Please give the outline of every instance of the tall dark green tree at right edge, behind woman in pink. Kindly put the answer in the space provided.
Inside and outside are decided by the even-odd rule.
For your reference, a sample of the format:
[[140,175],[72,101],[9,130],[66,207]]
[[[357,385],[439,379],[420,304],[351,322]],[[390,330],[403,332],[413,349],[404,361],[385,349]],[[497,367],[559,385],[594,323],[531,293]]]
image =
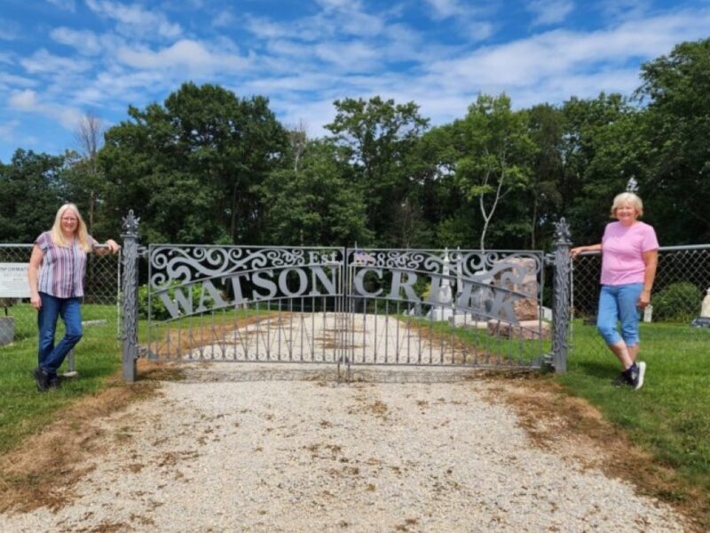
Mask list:
[[710,39],[645,63],[636,97],[647,103],[650,220],[667,243],[710,241]]

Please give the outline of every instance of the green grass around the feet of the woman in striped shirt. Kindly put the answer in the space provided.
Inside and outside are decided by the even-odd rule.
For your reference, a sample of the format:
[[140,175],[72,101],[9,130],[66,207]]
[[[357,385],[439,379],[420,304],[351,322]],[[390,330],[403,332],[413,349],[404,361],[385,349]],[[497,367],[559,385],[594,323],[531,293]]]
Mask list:
[[[111,306],[83,306],[83,320],[106,318],[110,310]],[[106,387],[106,378],[121,367],[115,307],[113,310],[113,320],[105,325],[84,328],[83,338],[75,348],[79,378],[65,381],[59,390],[39,394],[30,375],[37,365],[36,331],[31,338],[26,336],[0,346],[0,453],[14,448],[23,437],[40,431],[70,402]],[[16,311],[13,308],[13,315]],[[59,330],[57,340],[62,335]]]

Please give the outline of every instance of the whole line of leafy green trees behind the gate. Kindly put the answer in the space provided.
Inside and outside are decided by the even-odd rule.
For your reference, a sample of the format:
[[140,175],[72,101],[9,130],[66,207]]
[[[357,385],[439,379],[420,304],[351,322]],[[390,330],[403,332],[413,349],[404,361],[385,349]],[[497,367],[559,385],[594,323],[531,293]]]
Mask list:
[[93,235],[132,209],[144,243],[549,249],[565,217],[598,242],[634,178],[664,245],[710,242],[710,39],[644,63],[631,95],[516,110],[481,94],[433,127],[415,102],[335,100],[329,134],[280,123],[268,99],[183,84],[78,148],[0,163],[0,242],[32,242],[59,204]]

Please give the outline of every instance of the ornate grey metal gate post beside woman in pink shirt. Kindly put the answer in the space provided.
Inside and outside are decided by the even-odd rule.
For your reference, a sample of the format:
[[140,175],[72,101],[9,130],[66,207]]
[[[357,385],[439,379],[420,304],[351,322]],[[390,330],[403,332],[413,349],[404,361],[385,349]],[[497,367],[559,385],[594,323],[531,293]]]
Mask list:
[[563,218],[555,223],[555,278],[552,285],[552,364],[556,372],[567,371],[567,330],[570,324],[570,227]]

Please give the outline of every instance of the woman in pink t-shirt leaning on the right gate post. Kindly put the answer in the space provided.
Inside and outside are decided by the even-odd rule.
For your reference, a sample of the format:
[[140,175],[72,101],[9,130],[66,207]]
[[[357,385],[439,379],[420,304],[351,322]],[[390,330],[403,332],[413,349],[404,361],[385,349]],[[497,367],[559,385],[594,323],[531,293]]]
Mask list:
[[[602,252],[602,290],[596,328],[624,367],[614,385],[639,389],[646,363],[636,362],[640,311],[651,303],[651,289],[659,261],[659,241],[653,227],[638,220],[643,215],[641,198],[622,193],[614,198],[602,243],[572,248],[572,258],[583,251]],[[617,330],[621,323],[621,331]]]

